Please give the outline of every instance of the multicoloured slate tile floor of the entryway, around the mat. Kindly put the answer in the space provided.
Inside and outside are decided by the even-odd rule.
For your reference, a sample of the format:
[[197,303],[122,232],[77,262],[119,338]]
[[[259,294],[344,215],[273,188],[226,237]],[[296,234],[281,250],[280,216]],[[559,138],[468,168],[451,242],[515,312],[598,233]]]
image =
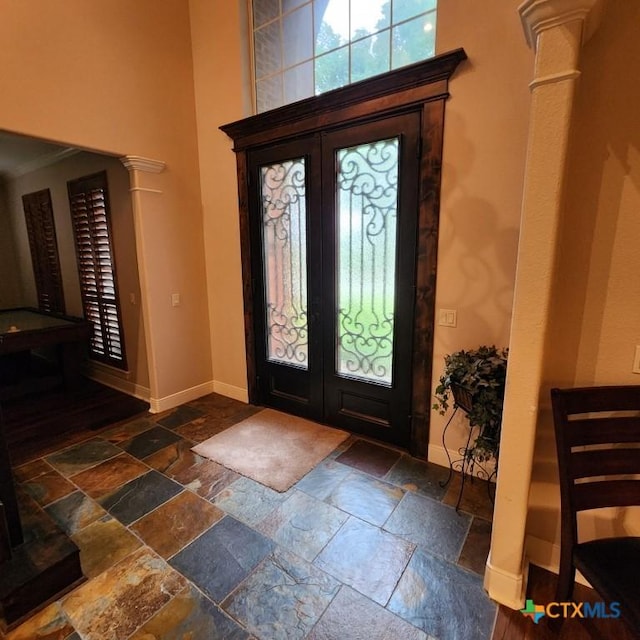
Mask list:
[[6,639],[491,637],[484,483],[456,512],[458,476],[356,436],[285,493],[191,451],[257,410],[213,394],[17,467],[87,581]]

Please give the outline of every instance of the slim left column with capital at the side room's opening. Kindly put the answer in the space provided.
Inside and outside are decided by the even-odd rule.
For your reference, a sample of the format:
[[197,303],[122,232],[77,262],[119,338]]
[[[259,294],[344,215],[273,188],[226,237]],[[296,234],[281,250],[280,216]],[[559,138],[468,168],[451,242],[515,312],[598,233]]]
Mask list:
[[160,173],[165,168],[161,160],[152,160],[140,156],[124,156],[120,162],[129,171],[129,191],[133,207],[133,220],[136,234],[136,257],[138,260],[138,274],[140,277],[140,305],[142,310],[142,322],[144,325],[144,340],[147,348],[147,362],[149,366],[149,400],[151,411],[154,410],[154,401],[159,398],[158,369],[156,365],[156,350],[153,341],[153,314],[149,304],[149,280],[144,251],[143,213],[149,207],[145,207],[144,194],[161,194],[159,189],[142,186],[145,173]]

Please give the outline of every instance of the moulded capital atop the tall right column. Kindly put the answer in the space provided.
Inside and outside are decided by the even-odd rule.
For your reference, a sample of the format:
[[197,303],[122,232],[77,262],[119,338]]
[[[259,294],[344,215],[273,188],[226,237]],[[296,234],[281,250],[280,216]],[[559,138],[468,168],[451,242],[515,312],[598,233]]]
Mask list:
[[598,28],[603,6],[604,0],[525,0],[518,12],[527,43],[535,49],[541,31],[575,20],[583,22],[584,44]]

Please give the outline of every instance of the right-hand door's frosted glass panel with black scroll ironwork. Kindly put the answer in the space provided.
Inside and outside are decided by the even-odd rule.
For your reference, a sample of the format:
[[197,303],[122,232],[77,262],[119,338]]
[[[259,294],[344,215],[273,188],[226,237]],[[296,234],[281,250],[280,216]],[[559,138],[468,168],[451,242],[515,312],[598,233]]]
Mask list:
[[391,386],[399,138],[336,153],[339,375]]

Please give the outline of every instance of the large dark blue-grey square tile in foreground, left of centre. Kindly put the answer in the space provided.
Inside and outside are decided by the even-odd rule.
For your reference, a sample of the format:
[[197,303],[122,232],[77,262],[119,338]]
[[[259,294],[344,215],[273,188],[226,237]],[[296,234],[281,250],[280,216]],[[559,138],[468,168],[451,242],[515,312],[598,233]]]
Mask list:
[[176,554],[170,564],[221,602],[273,547],[271,540],[227,516]]

